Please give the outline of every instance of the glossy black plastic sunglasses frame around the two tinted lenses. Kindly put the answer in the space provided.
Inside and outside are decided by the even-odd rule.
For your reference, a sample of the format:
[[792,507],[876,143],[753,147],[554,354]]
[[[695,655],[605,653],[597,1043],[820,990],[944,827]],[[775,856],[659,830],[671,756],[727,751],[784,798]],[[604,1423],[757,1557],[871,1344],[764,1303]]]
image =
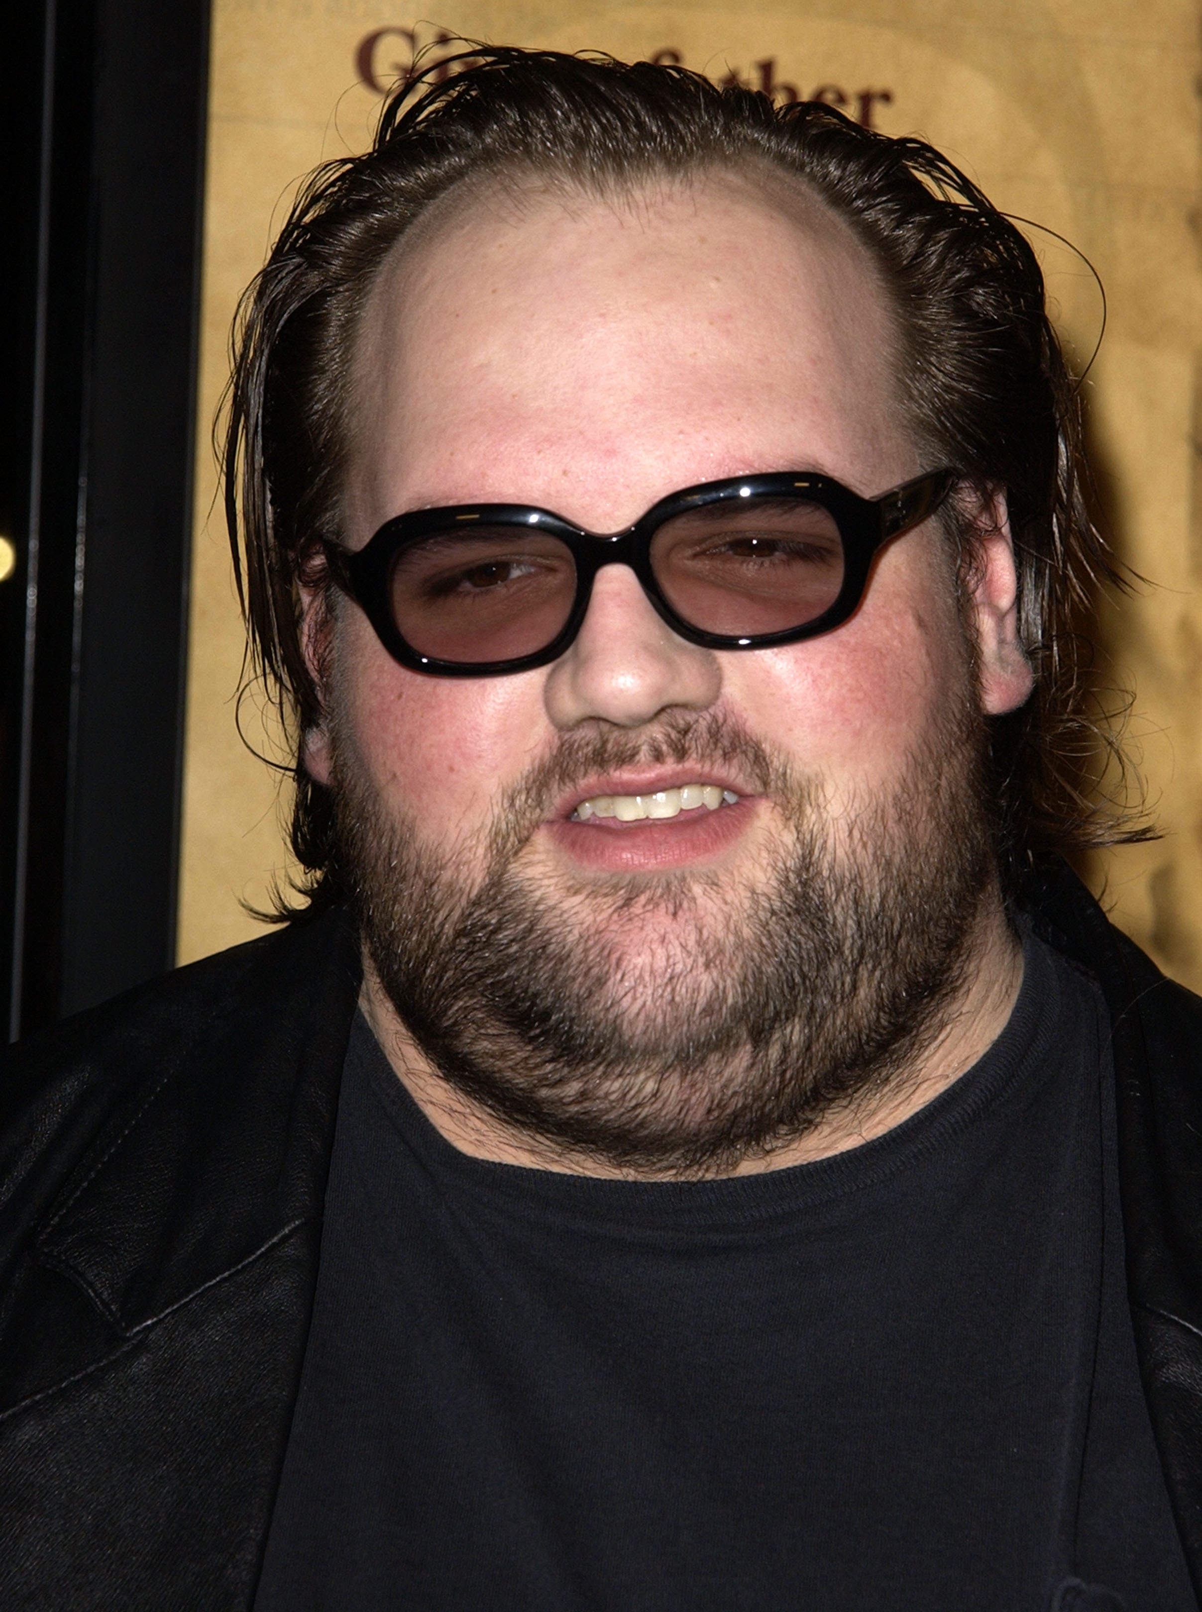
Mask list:
[[[413,509],[394,516],[360,550],[340,543],[323,543],[331,579],[363,609],[389,654],[413,672],[432,677],[505,677],[534,671],[558,659],[581,629],[592,596],[592,584],[602,566],[629,566],[642,584],[658,616],[687,643],[705,650],[766,650],[776,645],[802,643],[841,627],[857,609],[868,585],[873,559],[884,543],[910,532],[944,503],[958,480],[955,471],[929,471],[912,482],[860,498],[842,482],[812,471],[779,471],[763,476],[729,476],[720,482],[702,482],[670,493],[623,532],[586,532],[563,516],[536,505],[449,505],[436,509]],[[705,632],[684,621],[660,592],[650,564],[655,532],[674,516],[705,505],[737,498],[786,498],[803,495],[821,505],[839,527],[844,545],[844,582],[839,596],[821,616],[783,632],[729,637]],[[542,650],[508,661],[442,661],[419,654],[399,632],[389,606],[389,575],[397,553],[434,532],[463,529],[479,521],[487,526],[511,526],[547,532],[571,551],[576,566],[576,598],[563,629]]]

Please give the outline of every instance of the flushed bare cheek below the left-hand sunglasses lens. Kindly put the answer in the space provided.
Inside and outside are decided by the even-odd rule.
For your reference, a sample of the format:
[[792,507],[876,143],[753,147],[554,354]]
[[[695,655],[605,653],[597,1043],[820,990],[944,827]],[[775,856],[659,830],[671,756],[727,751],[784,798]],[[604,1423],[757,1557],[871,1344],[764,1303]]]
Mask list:
[[395,814],[413,814],[432,838],[470,835],[545,742],[540,679],[421,677],[397,666],[374,634],[368,642],[347,624],[342,743]]

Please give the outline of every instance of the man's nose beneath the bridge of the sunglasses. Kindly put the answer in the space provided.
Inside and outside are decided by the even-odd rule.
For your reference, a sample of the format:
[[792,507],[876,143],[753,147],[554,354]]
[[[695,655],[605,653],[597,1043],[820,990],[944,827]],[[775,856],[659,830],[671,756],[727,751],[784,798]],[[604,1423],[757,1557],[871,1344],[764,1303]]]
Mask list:
[[553,663],[544,700],[558,729],[641,727],[663,711],[705,711],[721,690],[712,650],[662,621],[629,566],[602,566],[576,642]]

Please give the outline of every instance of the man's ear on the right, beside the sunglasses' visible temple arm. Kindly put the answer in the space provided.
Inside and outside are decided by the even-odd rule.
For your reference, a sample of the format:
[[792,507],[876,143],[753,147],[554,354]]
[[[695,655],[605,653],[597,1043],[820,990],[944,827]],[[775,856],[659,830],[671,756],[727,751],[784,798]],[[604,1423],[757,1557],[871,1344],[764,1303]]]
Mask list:
[[1016,711],[1031,695],[1034,672],[1018,637],[1018,572],[1005,493],[976,495],[962,509],[971,529],[966,556],[966,613],[976,637],[981,709],[986,716]]

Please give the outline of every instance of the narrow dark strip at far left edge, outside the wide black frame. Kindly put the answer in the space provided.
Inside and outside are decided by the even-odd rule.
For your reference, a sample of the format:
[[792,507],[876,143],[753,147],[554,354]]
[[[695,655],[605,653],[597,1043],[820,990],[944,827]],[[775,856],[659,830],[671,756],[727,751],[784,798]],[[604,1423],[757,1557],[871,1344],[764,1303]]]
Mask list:
[[[10,1037],[56,1016],[69,811],[76,555],[86,471],[94,0],[31,0],[3,18],[10,97],[3,274],[3,519],[18,574],[5,617],[3,951]],[[65,47],[69,40],[69,48]],[[16,113],[13,116],[13,113]],[[29,1003],[37,1004],[32,1020]]]

